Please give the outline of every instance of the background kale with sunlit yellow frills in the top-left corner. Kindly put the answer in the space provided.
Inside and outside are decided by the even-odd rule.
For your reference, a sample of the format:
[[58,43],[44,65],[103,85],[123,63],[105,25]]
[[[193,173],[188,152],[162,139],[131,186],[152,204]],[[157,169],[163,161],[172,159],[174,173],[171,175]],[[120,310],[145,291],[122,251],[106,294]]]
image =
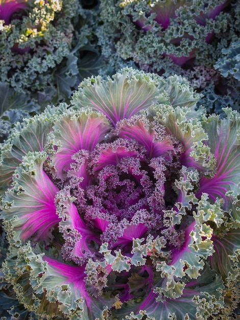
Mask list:
[[[81,79],[84,54],[77,53],[97,56],[88,15],[77,0],[0,1],[0,81],[31,94],[38,107],[69,101]],[[83,62],[82,69],[90,69]]]

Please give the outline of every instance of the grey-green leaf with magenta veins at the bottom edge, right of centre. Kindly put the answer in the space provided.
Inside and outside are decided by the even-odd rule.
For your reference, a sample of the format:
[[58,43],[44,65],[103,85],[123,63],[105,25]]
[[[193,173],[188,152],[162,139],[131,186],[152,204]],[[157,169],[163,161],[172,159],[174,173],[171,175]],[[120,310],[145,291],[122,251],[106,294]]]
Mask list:
[[[125,317],[130,320],[205,319],[209,315],[206,306],[217,313],[223,304],[220,293],[222,287],[221,278],[215,277],[214,272],[206,268],[198,280],[186,285],[180,298],[166,299],[161,303],[156,302],[156,294],[149,292],[138,302],[130,300],[125,303],[113,314],[121,320]],[[130,316],[129,309],[133,310]]]

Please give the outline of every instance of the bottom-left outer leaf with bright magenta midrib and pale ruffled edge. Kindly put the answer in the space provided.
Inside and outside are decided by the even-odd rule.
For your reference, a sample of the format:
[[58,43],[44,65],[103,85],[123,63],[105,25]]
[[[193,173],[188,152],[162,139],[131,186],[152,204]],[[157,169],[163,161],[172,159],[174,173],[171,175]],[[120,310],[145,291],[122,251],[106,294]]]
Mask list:
[[84,281],[85,266],[70,266],[47,257],[43,260],[48,265],[38,290],[42,293],[46,288],[50,302],[58,301],[59,310],[73,320],[105,319],[104,309],[111,306],[115,299],[89,296]]

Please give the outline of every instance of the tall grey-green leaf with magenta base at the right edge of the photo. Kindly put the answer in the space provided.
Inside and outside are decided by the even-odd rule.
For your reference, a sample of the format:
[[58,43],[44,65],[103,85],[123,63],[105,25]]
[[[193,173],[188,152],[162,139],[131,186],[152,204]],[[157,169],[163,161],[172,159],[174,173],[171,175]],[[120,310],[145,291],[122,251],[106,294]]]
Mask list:
[[217,197],[224,199],[224,210],[231,210],[232,220],[239,225],[239,208],[235,204],[240,194],[240,116],[231,109],[224,110],[228,115],[226,119],[211,116],[204,125],[217,168],[212,178],[201,178],[197,196],[207,193],[212,201]]

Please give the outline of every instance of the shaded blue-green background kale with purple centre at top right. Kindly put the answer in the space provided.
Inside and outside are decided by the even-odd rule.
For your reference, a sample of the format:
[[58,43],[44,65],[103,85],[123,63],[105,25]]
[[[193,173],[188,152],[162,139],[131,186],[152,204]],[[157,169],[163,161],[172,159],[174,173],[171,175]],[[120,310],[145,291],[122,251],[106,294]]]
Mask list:
[[210,113],[223,114],[225,106],[239,111],[239,101],[236,85],[232,89],[214,64],[239,38],[239,11],[239,2],[225,0],[103,0],[97,34],[113,66],[182,75],[205,96]]

